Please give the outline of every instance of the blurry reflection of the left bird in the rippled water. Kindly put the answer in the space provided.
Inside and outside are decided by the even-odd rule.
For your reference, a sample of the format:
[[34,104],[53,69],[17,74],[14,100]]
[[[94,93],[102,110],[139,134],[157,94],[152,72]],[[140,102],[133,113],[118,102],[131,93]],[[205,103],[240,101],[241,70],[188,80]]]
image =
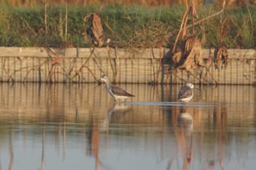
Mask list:
[[116,122],[121,117],[130,112],[132,109],[127,106],[125,103],[113,103],[113,106],[108,110],[105,120],[102,122],[101,130],[108,131],[110,121]]

